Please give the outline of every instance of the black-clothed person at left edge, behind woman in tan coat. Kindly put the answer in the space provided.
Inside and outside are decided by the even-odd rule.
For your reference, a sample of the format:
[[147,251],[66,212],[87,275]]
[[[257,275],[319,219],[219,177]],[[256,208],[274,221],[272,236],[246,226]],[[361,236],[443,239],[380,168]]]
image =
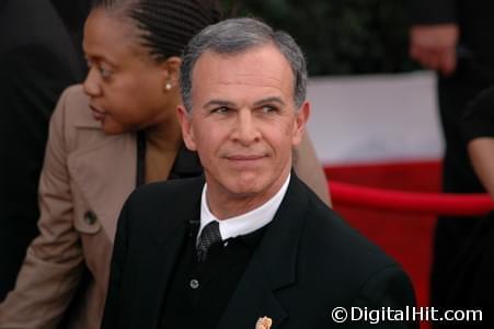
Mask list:
[[48,0],[0,0],[0,300],[37,235],[48,120],[81,67]]

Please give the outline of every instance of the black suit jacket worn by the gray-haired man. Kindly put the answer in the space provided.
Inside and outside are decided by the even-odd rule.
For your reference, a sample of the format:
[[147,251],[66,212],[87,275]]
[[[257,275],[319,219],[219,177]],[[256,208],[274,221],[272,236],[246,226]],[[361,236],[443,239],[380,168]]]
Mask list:
[[[203,185],[203,178],[150,184],[126,202],[102,328],[159,328],[187,225],[199,218]],[[292,174],[218,328],[253,329],[263,316],[273,319],[272,328],[328,328],[335,325],[330,313],[338,306],[403,308],[414,303],[406,274]],[[352,326],[357,324],[345,328]]]

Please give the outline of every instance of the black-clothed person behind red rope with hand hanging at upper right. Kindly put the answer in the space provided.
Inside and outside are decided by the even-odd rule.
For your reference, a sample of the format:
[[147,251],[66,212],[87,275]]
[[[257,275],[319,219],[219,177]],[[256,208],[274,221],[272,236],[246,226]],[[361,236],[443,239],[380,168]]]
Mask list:
[[[494,82],[494,1],[410,0],[411,56],[438,71],[438,100],[446,143],[443,191],[484,192],[468,158],[460,122],[467,104]],[[478,217],[438,218],[430,280],[430,303],[444,306],[451,264]],[[436,324],[437,325],[437,324]]]

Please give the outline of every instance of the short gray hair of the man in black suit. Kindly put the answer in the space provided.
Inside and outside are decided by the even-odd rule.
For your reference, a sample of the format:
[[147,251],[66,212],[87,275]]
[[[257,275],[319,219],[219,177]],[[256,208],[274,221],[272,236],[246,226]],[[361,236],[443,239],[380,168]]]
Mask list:
[[294,102],[299,109],[307,93],[307,65],[302,50],[288,33],[274,31],[256,19],[241,18],[205,27],[185,47],[180,84],[187,112],[192,112],[192,71],[204,53],[239,54],[266,44],[275,45],[288,60],[295,78]]

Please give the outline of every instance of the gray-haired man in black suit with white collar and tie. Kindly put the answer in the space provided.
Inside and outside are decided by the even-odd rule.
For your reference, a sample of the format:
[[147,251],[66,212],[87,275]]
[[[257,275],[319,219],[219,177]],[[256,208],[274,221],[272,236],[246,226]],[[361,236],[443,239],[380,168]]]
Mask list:
[[191,41],[177,114],[205,178],[147,185],[126,202],[102,328],[253,329],[263,317],[326,328],[336,307],[414,305],[406,274],[291,170],[306,83],[294,39],[256,20]]

